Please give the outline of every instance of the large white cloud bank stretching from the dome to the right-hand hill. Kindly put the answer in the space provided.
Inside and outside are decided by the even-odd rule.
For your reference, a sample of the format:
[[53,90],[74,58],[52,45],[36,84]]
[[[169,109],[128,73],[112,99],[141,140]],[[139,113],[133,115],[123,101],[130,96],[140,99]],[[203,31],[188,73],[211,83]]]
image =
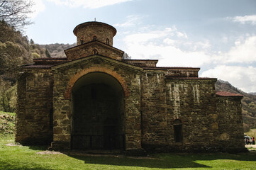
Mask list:
[[[230,42],[228,37],[221,41]],[[175,26],[136,30],[126,35],[123,42],[123,50],[133,59],[159,60],[158,67],[201,67],[208,70],[200,77],[216,77],[243,91],[256,91],[256,35],[238,37],[228,52],[213,51],[210,40],[191,40]]]

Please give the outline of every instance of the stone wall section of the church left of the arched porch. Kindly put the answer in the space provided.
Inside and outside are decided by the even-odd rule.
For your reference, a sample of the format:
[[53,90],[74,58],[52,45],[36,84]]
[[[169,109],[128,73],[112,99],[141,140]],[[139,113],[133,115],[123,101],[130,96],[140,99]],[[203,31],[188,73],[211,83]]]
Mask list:
[[50,144],[52,141],[52,73],[27,69],[18,79],[16,142]]

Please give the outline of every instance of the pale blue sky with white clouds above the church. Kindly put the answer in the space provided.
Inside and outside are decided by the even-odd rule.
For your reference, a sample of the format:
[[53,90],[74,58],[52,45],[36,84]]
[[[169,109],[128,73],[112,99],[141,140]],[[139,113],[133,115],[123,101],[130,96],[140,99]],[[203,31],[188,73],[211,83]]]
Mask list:
[[26,35],[73,44],[80,23],[108,23],[113,47],[157,67],[200,67],[199,77],[256,92],[255,0],[34,0]]

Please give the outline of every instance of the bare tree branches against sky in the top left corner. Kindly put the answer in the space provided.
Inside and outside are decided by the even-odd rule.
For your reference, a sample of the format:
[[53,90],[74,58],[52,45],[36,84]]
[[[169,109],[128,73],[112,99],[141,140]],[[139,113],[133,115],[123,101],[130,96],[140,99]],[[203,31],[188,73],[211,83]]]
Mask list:
[[31,0],[0,0],[0,21],[22,29],[31,23],[28,21],[28,14],[33,12],[32,6]]

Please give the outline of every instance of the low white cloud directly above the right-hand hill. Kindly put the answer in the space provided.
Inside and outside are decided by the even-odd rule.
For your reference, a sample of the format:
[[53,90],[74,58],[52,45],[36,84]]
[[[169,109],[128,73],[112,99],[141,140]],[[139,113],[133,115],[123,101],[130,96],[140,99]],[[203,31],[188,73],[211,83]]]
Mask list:
[[201,74],[201,77],[218,77],[247,92],[256,91],[256,68],[219,65]]

